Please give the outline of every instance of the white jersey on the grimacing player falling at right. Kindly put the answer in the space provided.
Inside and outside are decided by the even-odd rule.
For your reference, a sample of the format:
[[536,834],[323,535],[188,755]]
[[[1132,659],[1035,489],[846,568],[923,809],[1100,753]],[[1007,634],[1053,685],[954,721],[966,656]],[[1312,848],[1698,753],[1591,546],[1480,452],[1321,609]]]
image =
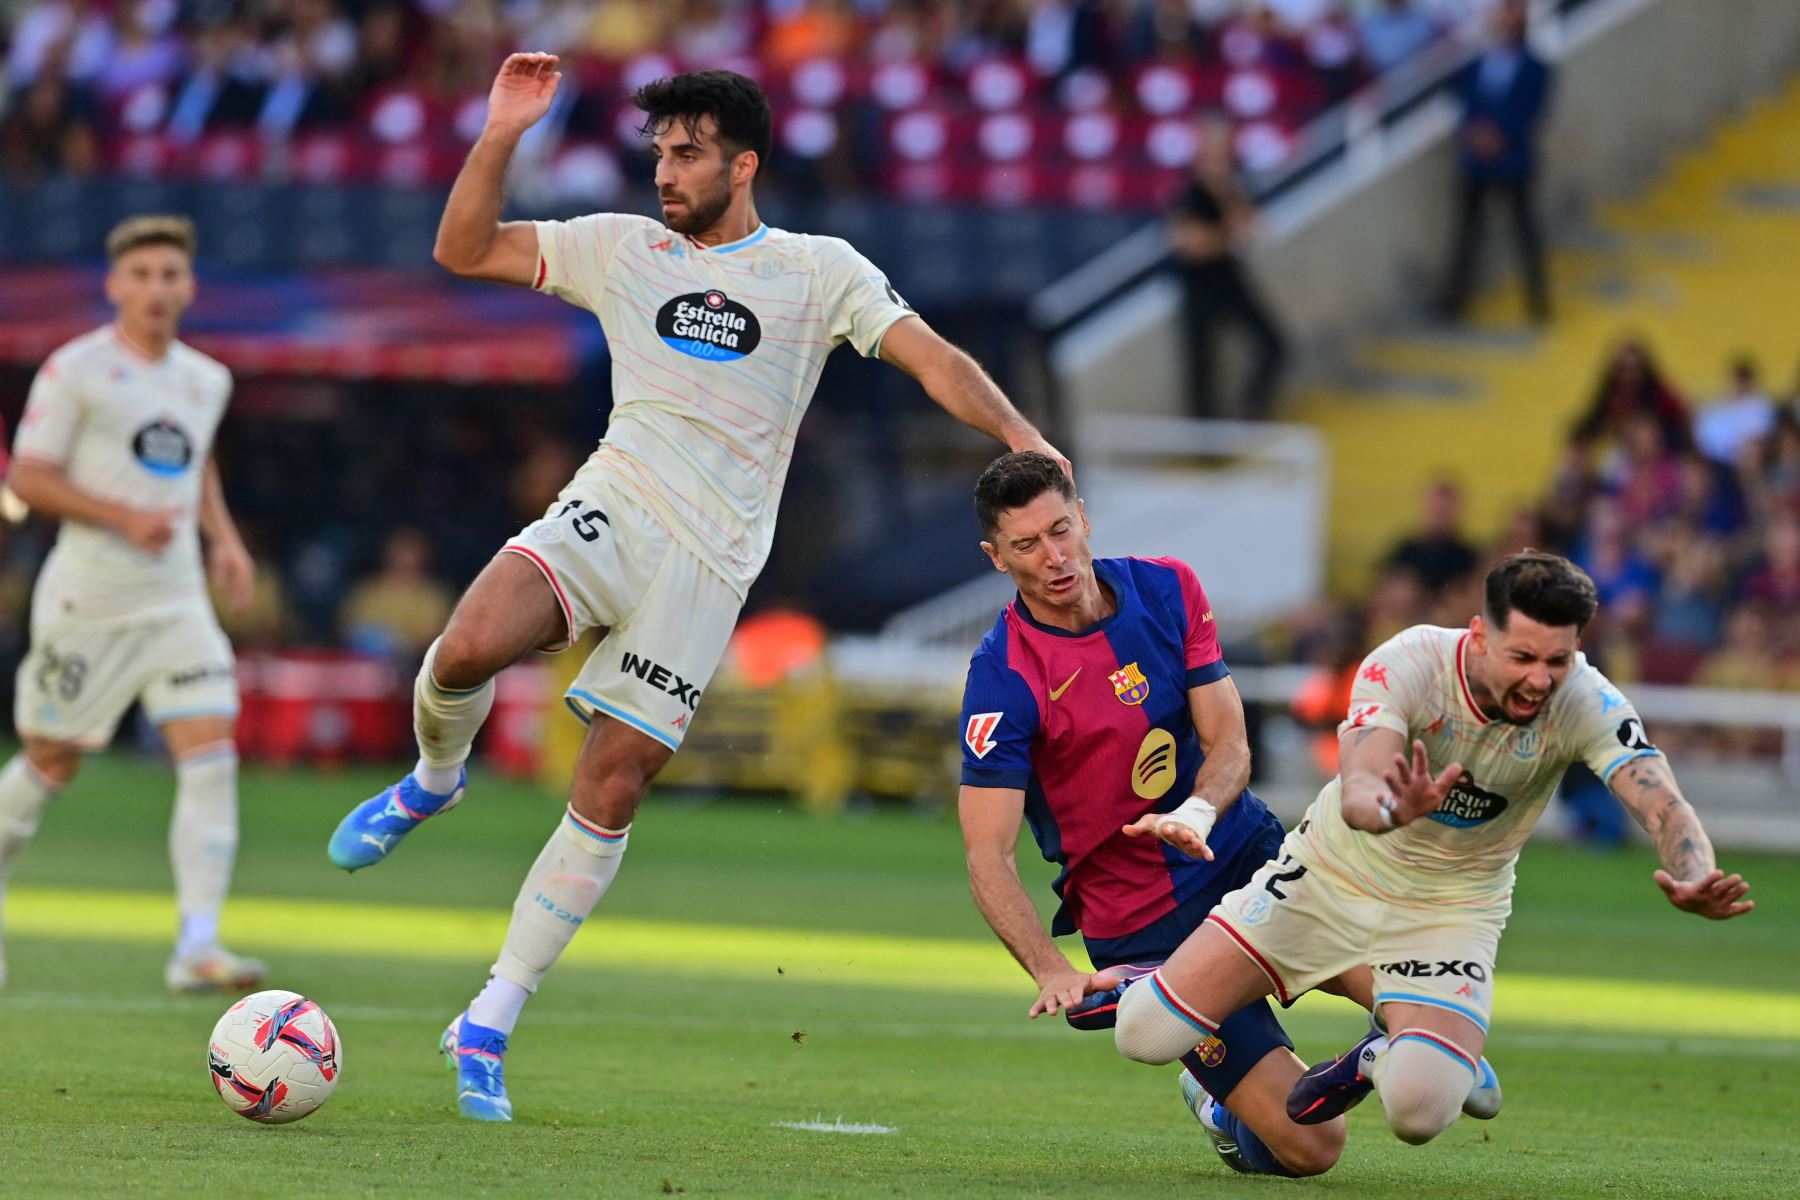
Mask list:
[[1381,644],[1357,673],[1339,732],[1377,727],[1426,743],[1431,772],[1463,775],[1435,813],[1391,833],[1345,824],[1339,781],[1307,810],[1305,846],[1327,873],[1381,900],[1415,907],[1512,907],[1512,869],[1571,763],[1609,779],[1660,754],[1631,702],[1586,655],[1530,725],[1489,720],[1463,673],[1469,630],[1417,624]]

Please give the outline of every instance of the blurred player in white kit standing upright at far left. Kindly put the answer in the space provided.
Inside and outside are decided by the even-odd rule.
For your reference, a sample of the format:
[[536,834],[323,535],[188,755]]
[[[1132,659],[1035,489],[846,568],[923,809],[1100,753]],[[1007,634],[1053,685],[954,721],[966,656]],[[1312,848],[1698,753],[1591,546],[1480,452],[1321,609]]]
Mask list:
[[175,338],[194,299],[193,254],[185,218],[113,228],[106,299],[119,320],[50,354],[20,419],[9,482],[61,531],[18,669],[23,750],[0,768],[0,889],[81,754],[112,741],[135,700],[175,757],[180,932],[164,977],[212,991],[254,988],[265,970],[218,941],[238,855],[238,680],[207,574],[243,608],[254,572],[212,461],[230,372]]

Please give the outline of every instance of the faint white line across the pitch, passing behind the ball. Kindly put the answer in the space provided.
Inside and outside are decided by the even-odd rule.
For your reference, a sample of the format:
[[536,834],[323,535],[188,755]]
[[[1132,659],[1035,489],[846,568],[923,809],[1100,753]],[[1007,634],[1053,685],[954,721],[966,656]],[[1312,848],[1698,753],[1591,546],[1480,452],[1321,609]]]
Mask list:
[[[218,997],[225,1000],[225,997]],[[157,995],[86,995],[81,991],[4,991],[0,990],[0,1016],[11,1009],[58,1009],[76,1013],[106,1015],[193,1015],[202,1000],[196,997],[157,997]],[[392,1007],[374,1004],[333,1004],[328,1007],[337,1022],[437,1022],[443,1013],[437,1009]],[[540,1011],[529,1016],[536,1025],[592,1025],[599,1018],[590,1013]],[[722,1020],[718,1016],[700,1016],[693,1013],[639,1013],[619,1009],[607,1013],[608,1025],[637,1025],[644,1029],[698,1029],[731,1033],[792,1033],[792,1022],[785,1018],[769,1020]],[[828,1020],[814,1018],[814,1034],[842,1033],[848,1036],[878,1038],[954,1038],[959,1042],[1042,1042],[1060,1036],[1055,1025],[981,1025],[981,1024],[941,1024],[925,1025],[918,1022],[869,1022],[869,1020]],[[1354,1033],[1354,1031],[1352,1031]],[[1348,1034],[1346,1034],[1348,1036]],[[1577,1051],[1584,1054],[1654,1054],[1676,1052],[1701,1058],[1800,1058],[1800,1042],[1793,1040],[1757,1040],[1757,1038],[1696,1038],[1685,1034],[1607,1034],[1582,1031],[1543,1031],[1530,1027],[1503,1029],[1489,1038],[1490,1047],[1499,1054],[1507,1047],[1528,1051]]]

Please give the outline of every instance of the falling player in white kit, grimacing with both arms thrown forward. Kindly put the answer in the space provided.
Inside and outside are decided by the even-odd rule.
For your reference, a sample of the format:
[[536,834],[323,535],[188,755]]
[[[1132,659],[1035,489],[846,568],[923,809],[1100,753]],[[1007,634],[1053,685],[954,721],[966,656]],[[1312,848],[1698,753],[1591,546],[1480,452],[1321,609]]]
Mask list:
[[1197,1022],[1370,966],[1377,1029],[1303,1074],[1289,1115],[1328,1121],[1375,1090],[1395,1135],[1431,1141],[1471,1083],[1487,1083],[1480,1060],[1514,864],[1573,763],[1649,831],[1672,905],[1712,919],[1750,912],[1750,885],[1715,869],[1631,702],[1577,651],[1597,606],[1579,567],[1526,551],[1494,567],[1467,630],[1413,626],[1379,646],[1339,727],[1339,777],[1282,856],[1226,894],[1152,975],[1156,986],[1127,990],[1120,1051],[1174,1061]]

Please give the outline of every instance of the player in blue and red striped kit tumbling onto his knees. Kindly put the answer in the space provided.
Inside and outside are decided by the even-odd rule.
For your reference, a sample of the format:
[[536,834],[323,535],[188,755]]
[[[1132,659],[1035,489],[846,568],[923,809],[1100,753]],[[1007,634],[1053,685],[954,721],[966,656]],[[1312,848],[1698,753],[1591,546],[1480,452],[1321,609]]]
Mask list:
[[[1244,705],[1193,570],[1172,558],[1094,560],[1075,486],[1042,453],[990,464],[976,515],[983,549],[1019,597],[983,639],[963,693],[970,887],[1039,984],[1030,1015],[1062,1011],[1071,1025],[1105,1029],[1123,984],[1148,975],[1273,858],[1283,829],[1246,788]],[[1210,831],[1204,815],[1192,817],[1208,811]],[[1177,813],[1186,829],[1170,828]],[[1049,934],[1013,858],[1024,820],[1062,865]],[[1076,930],[1093,973],[1051,941]],[[1341,984],[1368,1004],[1366,972]],[[1287,1117],[1305,1070],[1292,1045],[1265,1000],[1217,1036],[1195,1027],[1183,1092],[1235,1169],[1318,1175],[1343,1150],[1341,1123]]]

